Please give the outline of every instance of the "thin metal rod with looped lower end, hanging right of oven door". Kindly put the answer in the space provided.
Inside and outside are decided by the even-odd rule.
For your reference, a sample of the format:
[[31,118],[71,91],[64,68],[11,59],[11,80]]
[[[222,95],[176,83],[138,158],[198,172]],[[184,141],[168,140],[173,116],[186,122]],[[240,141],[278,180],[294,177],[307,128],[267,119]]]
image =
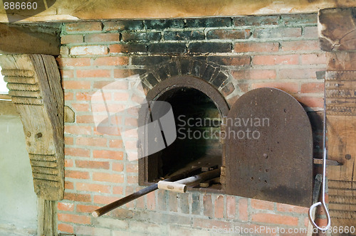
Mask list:
[[[330,220],[330,213],[328,208],[326,207],[325,204],[325,174],[326,174],[326,146],[325,146],[325,142],[326,142],[326,90],[324,87],[324,122],[323,122],[323,180],[322,180],[322,198],[321,201],[318,203],[314,203],[313,205],[310,206],[309,208],[309,220],[310,222],[314,225],[314,227],[316,227],[318,230],[321,231],[326,231],[328,230],[328,228],[331,225],[331,220]],[[313,220],[313,209],[318,207],[318,205],[321,205],[321,207],[325,210],[325,215],[326,218],[328,220],[328,224],[325,227],[319,227]]]

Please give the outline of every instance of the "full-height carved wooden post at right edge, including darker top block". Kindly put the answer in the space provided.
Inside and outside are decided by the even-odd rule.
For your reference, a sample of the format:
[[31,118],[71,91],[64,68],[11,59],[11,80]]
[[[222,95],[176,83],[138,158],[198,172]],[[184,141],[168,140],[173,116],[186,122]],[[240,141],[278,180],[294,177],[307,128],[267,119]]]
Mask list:
[[327,51],[325,78],[331,224],[356,225],[356,8],[319,11],[320,48]]

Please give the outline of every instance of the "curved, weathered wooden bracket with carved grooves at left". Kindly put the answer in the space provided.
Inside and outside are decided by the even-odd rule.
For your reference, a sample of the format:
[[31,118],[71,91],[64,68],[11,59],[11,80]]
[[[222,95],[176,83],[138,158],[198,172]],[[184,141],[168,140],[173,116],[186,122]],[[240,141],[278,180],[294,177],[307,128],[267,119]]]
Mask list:
[[20,114],[38,198],[64,194],[63,90],[51,55],[0,55],[1,73]]

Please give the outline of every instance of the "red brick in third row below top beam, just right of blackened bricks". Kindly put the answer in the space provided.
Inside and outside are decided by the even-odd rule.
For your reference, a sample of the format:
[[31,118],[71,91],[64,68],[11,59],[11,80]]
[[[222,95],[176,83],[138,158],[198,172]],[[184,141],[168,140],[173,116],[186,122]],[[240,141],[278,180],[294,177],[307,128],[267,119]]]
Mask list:
[[236,43],[234,51],[236,53],[249,53],[249,52],[277,52],[279,43]]

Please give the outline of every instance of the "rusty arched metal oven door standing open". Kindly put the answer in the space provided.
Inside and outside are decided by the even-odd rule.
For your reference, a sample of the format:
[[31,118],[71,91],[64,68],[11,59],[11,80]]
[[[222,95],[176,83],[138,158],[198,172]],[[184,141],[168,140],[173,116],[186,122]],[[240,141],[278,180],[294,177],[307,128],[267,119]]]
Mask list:
[[224,123],[227,194],[310,206],[313,136],[297,100],[275,88],[251,90]]

